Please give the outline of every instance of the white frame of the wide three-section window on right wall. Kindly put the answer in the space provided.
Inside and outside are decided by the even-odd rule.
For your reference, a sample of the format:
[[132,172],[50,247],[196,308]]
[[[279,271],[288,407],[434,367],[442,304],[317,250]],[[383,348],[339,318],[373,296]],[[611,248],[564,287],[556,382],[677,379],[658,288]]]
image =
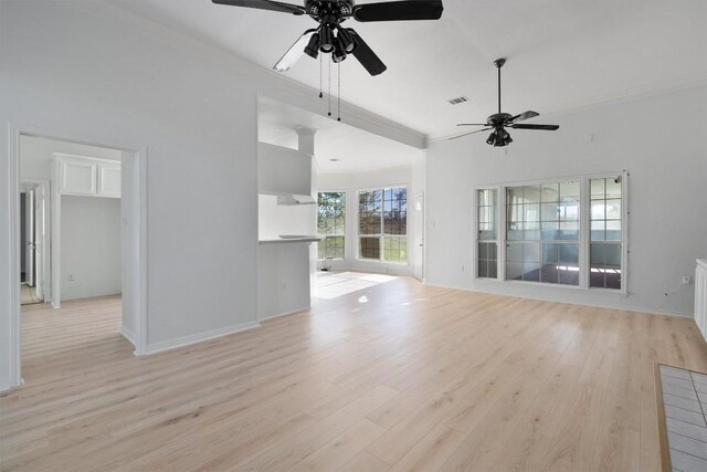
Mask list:
[[[629,232],[631,214],[630,198],[629,198],[629,179],[631,174],[627,170],[620,170],[615,172],[600,172],[588,174],[581,176],[568,176],[568,177],[553,177],[537,180],[524,180],[503,182],[494,185],[479,185],[473,188],[473,212],[472,212],[472,230],[473,230],[473,244],[472,244],[472,275],[475,282],[478,283],[510,283],[530,286],[553,287],[558,290],[581,290],[592,293],[605,293],[626,296],[629,294],[629,256],[631,254],[631,248],[629,247]],[[616,178],[621,177],[621,289],[604,289],[604,287],[591,287],[590,286],[590,231],[591,231],[591,189],[590,180],[600,178]],[[507,214],[506,214],[506,189],[508,187],[520,186],[536,186],[542,183],[557,183],[567,180],[579,180],[580,183],[580,201],[579,201],[579,285],[564,285],[555,284],[548,282],[535,282],[535,281],[516,281],[506,280],[506,251],[507,251]],[[496,208],[494,216],[497,221],[496,231],[496,244],[498,248],[498,266],[496,277],[479,277],[478,276],[478,243],[482,241],[478,238],[478,190],[496,190]],[[484,240],[492,242],[492,240]]]

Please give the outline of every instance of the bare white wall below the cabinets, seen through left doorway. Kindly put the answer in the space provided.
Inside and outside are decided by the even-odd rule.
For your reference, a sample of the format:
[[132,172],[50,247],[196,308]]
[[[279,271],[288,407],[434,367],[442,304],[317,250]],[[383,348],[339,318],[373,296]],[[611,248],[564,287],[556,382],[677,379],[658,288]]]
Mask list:
[[119,294],[120,199],[61,198],[62,301]]

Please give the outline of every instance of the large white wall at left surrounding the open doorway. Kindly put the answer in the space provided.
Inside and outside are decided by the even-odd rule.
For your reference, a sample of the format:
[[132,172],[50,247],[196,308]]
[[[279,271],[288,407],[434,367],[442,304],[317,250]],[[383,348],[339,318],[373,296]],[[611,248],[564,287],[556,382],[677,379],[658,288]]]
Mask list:
[[[325,113],[316,91],[105,2],[0,2],[0,153],[10,124],[147,149],[148,350],[256,319],[258,94]],[[346,104],[342,113],[350,125],[424,140]],[[10,169],[4,155],[1,188]],[[8,209],[0,191],[0,389],[17,381],[9,291],[19,261],[7,261],[19,230],[10,234]]]

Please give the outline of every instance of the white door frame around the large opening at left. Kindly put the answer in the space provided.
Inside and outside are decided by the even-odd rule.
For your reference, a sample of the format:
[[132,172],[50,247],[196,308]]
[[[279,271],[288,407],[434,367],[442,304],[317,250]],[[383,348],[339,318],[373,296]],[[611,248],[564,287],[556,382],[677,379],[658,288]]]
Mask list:
[[[115,143],[113,139],[96,138],[95,136],[81,136],[74,133],[66,134],[48,130],[28,125],[10,123],[8,126],[8,157],[9,157],[9,212],[10,212],[10,254],[8,264],[8,280],[10,281],[10,297],[8,300],[8,315],[10,316],[10,381],[11,388],[22,385],[21,364],[21,317],[20,317],[20,136],[34,136],[68,143],[85,144],[107,147],[133,153],[136,159],[139,188],[135,196],[139,206],[135,214],[136,225],[130,227],[133,235],[138,241],[140,254],[139,268],[128,273],[128,277],[137,280],[137,333],[130,342],[135,345],[135,355],[143,356],[147,353],[147,156],[148,147],[134,143]],[[135,188],[136,186],[130,186]],[[51,197],[50,197],[51,198]]]

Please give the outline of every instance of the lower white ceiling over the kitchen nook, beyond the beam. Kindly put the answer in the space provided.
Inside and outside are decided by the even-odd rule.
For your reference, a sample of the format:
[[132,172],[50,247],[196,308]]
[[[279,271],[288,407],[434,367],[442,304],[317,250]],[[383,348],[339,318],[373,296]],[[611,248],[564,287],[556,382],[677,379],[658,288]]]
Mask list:
[[318,170],[325,174],[408,166],[422,155],[420,149],[392,139],[272,98],[258,97],[258,140],[297,149],[297,127],[317,129],[315,159]]

